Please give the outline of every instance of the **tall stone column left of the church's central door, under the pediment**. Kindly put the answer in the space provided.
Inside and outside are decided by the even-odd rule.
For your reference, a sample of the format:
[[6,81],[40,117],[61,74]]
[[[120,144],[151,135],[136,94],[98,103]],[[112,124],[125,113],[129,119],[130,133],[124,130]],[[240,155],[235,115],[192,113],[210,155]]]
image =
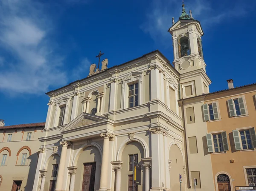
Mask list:
[[67,141],[62,141],[60,145],[62,145],[61,160],[58,167],[58,176],[57,176],[55,191],[62,191],[65,162],[66,162],[66,156],[67,156],[67,146],[70,145],[70,143]]

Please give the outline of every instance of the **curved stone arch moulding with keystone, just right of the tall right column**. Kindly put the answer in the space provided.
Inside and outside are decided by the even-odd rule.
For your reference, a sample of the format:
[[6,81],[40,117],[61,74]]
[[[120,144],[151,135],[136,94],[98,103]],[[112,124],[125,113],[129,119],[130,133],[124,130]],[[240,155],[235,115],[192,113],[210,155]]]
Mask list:
[[[148,145],[147,143],[145,142],[145,140],[141,139],[140,137],[136,137],[136,138],[133,138],[132,141],[137,141],[139,142],[142,147],[143,147],[143,150],[144,150],[144,156],[145,158],[149,157],[149,150],[148,150]],[[117,151],[117,155],[116,155],[116,160],[122,160],[122,151],[124,150],[125,146],[132,142],[129,138],[127,138],[119,147],[118,151]]]

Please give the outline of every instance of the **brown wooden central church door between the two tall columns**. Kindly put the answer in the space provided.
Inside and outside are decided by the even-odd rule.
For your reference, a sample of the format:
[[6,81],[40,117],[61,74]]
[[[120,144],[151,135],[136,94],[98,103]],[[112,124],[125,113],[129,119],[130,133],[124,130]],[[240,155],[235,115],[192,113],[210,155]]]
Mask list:
[[84,164],[82,191],[94,191],[96,162]]

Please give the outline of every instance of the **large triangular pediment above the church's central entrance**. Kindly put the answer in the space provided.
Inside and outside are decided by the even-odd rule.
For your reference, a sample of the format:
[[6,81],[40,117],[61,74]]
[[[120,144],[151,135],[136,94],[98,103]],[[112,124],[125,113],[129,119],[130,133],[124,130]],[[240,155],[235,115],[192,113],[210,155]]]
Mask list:
[[66,126],[61,128],[60,131],[67,131],[69,129],[90,125],[93,123],[108,120],[108,118],[96,116],[93,114],[81,113],[78,117],[68,123]]

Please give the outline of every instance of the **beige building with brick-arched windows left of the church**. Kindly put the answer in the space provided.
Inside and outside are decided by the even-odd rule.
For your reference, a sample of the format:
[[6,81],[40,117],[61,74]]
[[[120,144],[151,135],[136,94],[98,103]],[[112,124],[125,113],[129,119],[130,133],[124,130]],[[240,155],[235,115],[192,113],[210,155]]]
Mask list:
[[44,124],[4,126],[0,121],[1,191],[32,190]]

